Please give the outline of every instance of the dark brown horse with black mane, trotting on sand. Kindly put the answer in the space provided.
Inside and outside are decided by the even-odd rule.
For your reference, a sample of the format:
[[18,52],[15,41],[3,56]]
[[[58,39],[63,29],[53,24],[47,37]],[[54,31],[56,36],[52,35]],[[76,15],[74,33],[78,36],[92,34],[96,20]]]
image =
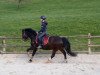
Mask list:
[[[24,41],[27,41],[28,39],[31,40],[31,46],[30,46],[30,48],[27,49],[28,54],[29,54],[30,50],[33,51],[29,62],[32,62],[32,59],[33,59],[36,51],[38,50],[39,44],[36,42],[37,35],[38,35],[37,32],[31,28],[22,29],[22,39]],[[46,45],[44,45],[42,47],[42,49],[43,50],[45,50],[45,49],[52,50],[50,59],[52,59],[55,56],[55,54],[58,50],[60,50],[63,53],[65,60],[67,59],[66,53],[73,57],[77,56],[76,53],[71,51],[70,42],[65,37],[49,36],[48,43]]]

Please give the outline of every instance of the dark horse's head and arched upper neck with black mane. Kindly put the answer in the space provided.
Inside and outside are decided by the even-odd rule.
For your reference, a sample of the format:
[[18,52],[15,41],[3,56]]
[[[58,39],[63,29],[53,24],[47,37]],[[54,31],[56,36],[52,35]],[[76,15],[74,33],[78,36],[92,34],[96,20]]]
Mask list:
[[36,35],[37,35],[36,31],[32,30],[31,28],[22,29],[23,40],[28,40],[28,38],[35,39]]

